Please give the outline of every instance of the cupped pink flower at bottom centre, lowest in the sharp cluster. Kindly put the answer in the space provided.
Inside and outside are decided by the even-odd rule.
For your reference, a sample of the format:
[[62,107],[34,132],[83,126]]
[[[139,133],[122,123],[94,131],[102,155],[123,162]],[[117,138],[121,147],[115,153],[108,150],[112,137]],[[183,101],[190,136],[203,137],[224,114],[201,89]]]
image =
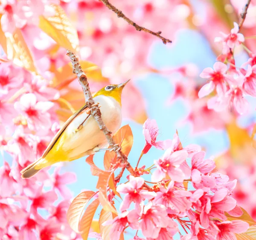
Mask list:
[[149,202],[141,214],[141,231],[145,237],[157,238],[161,228],[168,226],[169,217],[164,205],[153,205]]

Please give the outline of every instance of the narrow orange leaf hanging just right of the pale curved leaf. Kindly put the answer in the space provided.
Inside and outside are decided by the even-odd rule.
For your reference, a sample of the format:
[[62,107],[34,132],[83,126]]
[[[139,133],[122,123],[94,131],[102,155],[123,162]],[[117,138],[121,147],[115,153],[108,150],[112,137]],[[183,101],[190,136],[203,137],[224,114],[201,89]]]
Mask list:
[[79,224],[79,230],[84,240],[87,240],[88,234],[93,222],[94,214],[99,206],[99,199],[94,200],[85,210],[84,215]]

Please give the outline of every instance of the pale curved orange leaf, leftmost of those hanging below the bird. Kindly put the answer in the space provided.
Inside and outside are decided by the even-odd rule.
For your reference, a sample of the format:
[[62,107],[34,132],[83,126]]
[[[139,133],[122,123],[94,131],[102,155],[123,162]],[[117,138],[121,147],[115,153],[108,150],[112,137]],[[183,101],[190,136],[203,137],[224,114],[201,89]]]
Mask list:
[[75,197],[67,211],[67,221],[73,231],[79,233],[79,221],[85,206],[95,195],[93,191],[84,191]]

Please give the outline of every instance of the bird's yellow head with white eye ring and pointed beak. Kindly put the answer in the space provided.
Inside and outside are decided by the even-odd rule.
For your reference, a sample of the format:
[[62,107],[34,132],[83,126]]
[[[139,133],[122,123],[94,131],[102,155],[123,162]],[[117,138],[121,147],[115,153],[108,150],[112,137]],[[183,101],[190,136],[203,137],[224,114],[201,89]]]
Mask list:
[[116,101],[118,101],[119,104],[121,105],[122,90],[125,87],[125,85],[128,83],[128,81],[130,81],[130,79],[123,83],[120,83],[118,85],[111,84],[106,87],[103,87],[101,90],[99,90],[97,93],[95,93],[93,95],[93,98],[95,98],[96,96],[99,96],[99,95],[110,96],[110,97],[116,99]]

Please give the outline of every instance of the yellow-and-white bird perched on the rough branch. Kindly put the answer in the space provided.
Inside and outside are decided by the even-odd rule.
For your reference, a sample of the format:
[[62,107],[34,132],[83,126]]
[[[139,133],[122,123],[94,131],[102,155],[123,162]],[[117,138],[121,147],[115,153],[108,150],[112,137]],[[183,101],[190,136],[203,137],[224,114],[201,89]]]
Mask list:
[[[118,85],[108,85],[93,95],[94,101],[99,104],[102,121],[112,134],[116,133],[122,124],[121,96],[128,81],[130,79]],[[104,133],[88,110],[85,104],[67,119],[43,155],[20,171],[23,179],[34,176],[41,169],[56,162],[73,161],[108,147]]]

